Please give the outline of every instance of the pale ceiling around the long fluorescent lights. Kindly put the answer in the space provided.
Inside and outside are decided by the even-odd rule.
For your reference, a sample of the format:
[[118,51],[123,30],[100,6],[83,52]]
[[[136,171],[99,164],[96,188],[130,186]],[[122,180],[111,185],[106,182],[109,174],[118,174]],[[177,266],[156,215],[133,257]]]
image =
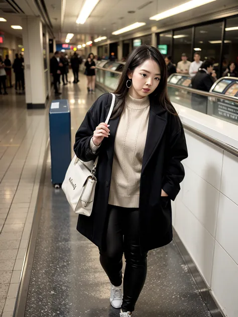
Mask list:
[[[170,28],[170,26],[184,21],[237,6],[237,0],[216,0],[216,2],[157,22],[151,21],[149,18],[173,8],[175,6],[174,0],[100,0],[86,22],[83,25],[77,25],[76,20],[84,1],[45,0],[56,40],[64,42],[67,33],[74,33],[75,36],[70,41],[72,44],[82,44],[99,36],[106,36],[110,41],[117,41],[125,37],[132,37],[135,32],[150,31],[152,27],[157,29]],[[184,4],[186,1],[188,0],[177,0],[176,6]],[[21,37],[22,31],[13,30],[11,25],[21,25],[21,19],[26,15],[39,16],[38,9],[34,0],[15,0],[15,3],[23,12],[6,14],[1,11],[1,8],[10,6],[9,3],[14,4],[14,1],[0,0],[0,17],[7,19],[6,23],[0,22],[0,31]],[[130,11],[135,13],[129,13]],[[146,26],[123,35],[111,35],[113,31],[135,22],[145,22]],[[210,32],[212,32],[212,29]]]

